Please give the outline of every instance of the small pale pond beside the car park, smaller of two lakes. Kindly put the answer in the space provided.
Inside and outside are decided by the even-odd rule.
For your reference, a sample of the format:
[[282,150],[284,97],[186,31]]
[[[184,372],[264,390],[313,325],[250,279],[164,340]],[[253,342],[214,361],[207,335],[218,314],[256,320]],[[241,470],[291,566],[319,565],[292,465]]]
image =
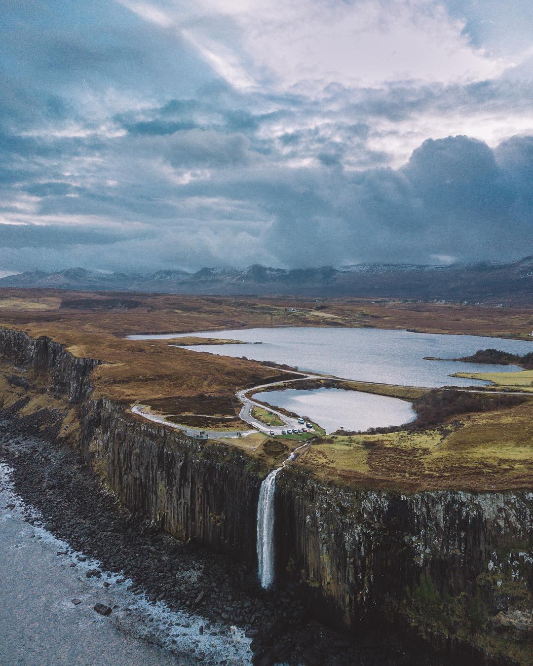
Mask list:
[[344,430],[368,430],[401,426],[416,418],[410,402],[406,400],[340,388],[290,388],[284,391],[264,391],[253,397],[294,414],[308,416],[328,434],[341,427]]

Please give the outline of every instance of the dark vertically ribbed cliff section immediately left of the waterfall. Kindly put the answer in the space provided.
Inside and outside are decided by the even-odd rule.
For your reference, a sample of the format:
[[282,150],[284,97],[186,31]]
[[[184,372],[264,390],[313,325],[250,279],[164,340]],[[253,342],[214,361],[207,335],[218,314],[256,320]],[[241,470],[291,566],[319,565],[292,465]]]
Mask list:
[[179,539],[255,561],[261,480],[243,454],[133,418],[109,400],[81,408],[80,446],[129,509]]

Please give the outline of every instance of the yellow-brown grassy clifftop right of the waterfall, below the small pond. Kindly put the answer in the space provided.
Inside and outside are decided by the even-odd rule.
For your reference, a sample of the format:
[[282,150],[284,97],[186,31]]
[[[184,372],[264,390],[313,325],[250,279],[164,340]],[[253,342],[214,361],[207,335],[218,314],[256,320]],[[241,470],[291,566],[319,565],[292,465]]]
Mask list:
[[423,432],[327,436],[300,466],[322,480],[372,488],[532,488],[533,402]]

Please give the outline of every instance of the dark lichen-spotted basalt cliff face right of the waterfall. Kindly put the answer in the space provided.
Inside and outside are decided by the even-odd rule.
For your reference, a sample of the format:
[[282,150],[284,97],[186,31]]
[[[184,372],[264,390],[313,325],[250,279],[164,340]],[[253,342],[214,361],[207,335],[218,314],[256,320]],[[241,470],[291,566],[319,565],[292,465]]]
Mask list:
[[276,516],[278,575],[306,581],[324,615],[356,629],[384,614],[432,641],[530,663],[532,492],[404,495],[290,470]]

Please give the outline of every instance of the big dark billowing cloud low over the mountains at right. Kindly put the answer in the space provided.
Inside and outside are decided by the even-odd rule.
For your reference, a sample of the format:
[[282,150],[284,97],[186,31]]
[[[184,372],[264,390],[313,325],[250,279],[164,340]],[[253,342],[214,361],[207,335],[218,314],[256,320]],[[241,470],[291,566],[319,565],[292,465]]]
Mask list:
[[531,193],[532,147],[532,137],[514,137],[498,149],[498,164],[481,141],[428,140],[398,170],[335,174],[336,184],[316,184],[303,214],[302,201],[293,198],[277,211],[269,240],[283,239],[276,251],[286,262],[294,244],[307,238],[318,238],[329,263],[527,254],[533,208],[524,188]]

